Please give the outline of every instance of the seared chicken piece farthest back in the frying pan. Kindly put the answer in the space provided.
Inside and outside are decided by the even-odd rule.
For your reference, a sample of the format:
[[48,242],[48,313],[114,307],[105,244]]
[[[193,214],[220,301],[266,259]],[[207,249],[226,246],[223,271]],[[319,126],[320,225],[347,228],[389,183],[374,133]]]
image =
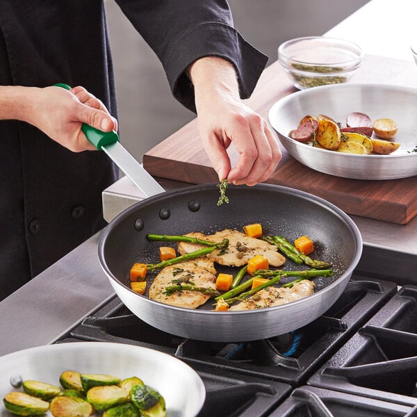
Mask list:
[[[227,266],[243,266],[247,264],[255,255],[263,255],[271,266],[281,266],[285,262],[284,256],[277,252],[278,248],[275,245],[265,242],[261,239],[251,238],[240,231],[226,229],[218,231],[213,235],[204,235],[202,233],[193,232],[186,234],[193,238],[220,243],[223,239],[229,240],[229,247],[222,254],[221,250],[214,250],[207,255],[208,259]],[[195,245],[194,243],[180,242],[178,244],[178,252],[188,254],[202,248],[202,245]]]

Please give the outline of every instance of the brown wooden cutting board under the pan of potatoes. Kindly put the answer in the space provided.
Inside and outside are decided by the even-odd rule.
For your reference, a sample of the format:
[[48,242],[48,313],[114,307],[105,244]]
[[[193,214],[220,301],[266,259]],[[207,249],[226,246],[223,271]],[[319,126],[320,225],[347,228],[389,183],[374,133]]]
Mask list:
[[[366,56],[351,83],[384,83],[417,88],[413,62]],[[281,97],[295,92],[279,63],[265,69],[247,105],[268,120],[268,111]],[[417,214],[417,177],[389,181],[344,179],[311,170],[281,147],[283,158],[268,183],[303,190],[327,199],[343,211],[366,218],[406,224]],[[231,161],[237,161],[234,147]],[[155,177],[188,183],[218,182],[199,139],[197,120],[183,126],[143,156],[143,166]]]

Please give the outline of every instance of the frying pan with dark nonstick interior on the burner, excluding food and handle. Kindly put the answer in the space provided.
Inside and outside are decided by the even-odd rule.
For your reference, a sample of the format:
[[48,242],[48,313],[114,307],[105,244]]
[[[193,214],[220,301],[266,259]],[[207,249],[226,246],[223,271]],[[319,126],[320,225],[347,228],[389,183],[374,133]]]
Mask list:
[[[309,193],[269,184],[229,186],[229,204],[221,206],[216,204],[218,195],[216,184],[154,195],[127,208],[104,229],[99,261],[115,293],[132,313],[157,329],[184,338],[238,342],[291,332],[336,302],[362,251],[359,230],[341,209]],[[226,228],[241,231],[245,224],[254,222],[262,224],[264,234],[288,240],[304,234],[313,238],[314,256],[332,261],[334,276],[316,278],[316,292],[309,297],[253,311],[213,311],[210,300],[198,309],[185,309],[150,300],[129,288],[133,263],[158,261],[161,242],[150,242],[147,234],[212,234]],[[215,267],[218,272],[227,270]],[[286,261],[284,268],[306,269],[291,261]]]

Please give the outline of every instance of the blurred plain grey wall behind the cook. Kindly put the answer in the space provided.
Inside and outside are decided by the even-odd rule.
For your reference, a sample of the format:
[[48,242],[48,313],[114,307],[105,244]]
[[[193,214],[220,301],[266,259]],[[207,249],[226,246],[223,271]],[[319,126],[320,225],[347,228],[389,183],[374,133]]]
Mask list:
[[[236,28],[270,57],[268,64],[277,59],[281,42],[299,36],[322,35],[367,2],[229,0]],[[106,9],[115,65],[120,136],[129,152],[142,161],[145,152],[195,115],[170,95],[161,63],[115,1],[107,0]]]

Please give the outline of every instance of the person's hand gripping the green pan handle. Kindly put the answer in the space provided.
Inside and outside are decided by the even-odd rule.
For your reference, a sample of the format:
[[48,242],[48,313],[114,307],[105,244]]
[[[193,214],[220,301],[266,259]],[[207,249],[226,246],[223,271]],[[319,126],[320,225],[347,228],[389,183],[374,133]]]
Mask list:
[[117,121],[104,104],[83,87],[30,88],[25,121],[38,127],[72,152],[96,149],[83,131],[83,123],[100,131],[117,131]]

